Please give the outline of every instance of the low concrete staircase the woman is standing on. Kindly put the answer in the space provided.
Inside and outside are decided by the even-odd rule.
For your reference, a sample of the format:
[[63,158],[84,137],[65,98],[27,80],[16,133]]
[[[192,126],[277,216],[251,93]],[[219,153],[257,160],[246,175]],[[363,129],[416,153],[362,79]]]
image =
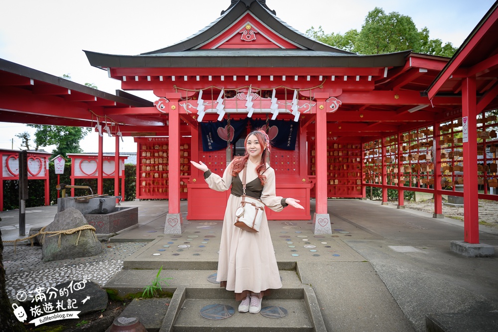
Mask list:
[[[134,264],[131,260],[105,288],[120,296],[141,292],[156,276],[158,263],[168,267],[163,268],[160,276],[172,278],[168,280],[169,286],[163,287],[163,291],[173,294],[165,315],[161,312],[163,308],[157,308],[157,302],[150,301],[150,305],[147,305],[148,300],[133,300],[121,314],[122,317],[138,317],[149,332],[326,331],[315,293],[309,285],[301,283],[295,262],[279,264],[280,269],[286,268],[280,270],[283,287],[273,290],[271,296],[264,298],[262,302],[262,307],[278,306],[287,310],[287,316],[278,319],[267,318],[261,314],[239,313],[239,302],[235,301],[233,292],[208,281],[208,277],[216,272],[211,269],[216,268],[215,262],[212,261],[199,260],[179,264],[178,261],[154,260],[147,264],[142,260]],[[151,269],[143,269],[145,265]],[[182,269],[182,265],[188,269]],[[203,318],[200,315],[201,308],[212,304],[229,305],[235,309],[235,314],[222,320]],[[151,313],[161,317],[151,319]]]

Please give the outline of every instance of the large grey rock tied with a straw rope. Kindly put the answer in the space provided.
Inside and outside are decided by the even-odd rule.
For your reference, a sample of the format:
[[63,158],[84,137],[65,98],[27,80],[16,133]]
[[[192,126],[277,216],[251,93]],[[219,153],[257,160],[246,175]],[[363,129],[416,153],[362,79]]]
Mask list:
[[[69,208],[57,213],[54,221],[45,228],[45,231],[73,229],[83,225],[88,225],[88,223],[81,212],[75,208]],[[49,236],[49,234],[45,234],[42,246],[43,261],[95,256],[102,252],[102,244],[95,238],[90,229],[81,231],[78,245],[76,245],[79,233],[80,231],[60,235],[60,247],[59,235]]]

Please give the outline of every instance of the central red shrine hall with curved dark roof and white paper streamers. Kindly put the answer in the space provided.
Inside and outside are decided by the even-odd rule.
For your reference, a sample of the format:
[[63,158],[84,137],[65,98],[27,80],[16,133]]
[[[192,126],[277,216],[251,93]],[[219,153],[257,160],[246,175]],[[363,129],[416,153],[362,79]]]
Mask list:
[[[305,210],[268,212],[268,218],[309,220],[314,197],[319,216],[314,224],[330,229],[329,197],[365,197],[368,185],[381,187],[386,201],[387,189],[395,188],[402,207],[404,183],[430,190],[429,176],[419,174],[410,182],[411,168],[406,179],[400,176],[402,146],[410,146],[410,161],[417,155],[418,164],[419,150],[426,147],[418,144],[415,153],[408,135],[461,115],[461,100],[435,95],[429,101],[420,93],[447,58],[340,50],[293,29],[265,1],[232,1],[211,25],[160,50],[132,56],[85,52],[92,66],[122,81],[124,90],[151,90],[157,96],[155,109],[119,110],[166,123],[124,132],[137,137],[137,197],[168,198],[170,214],[179,214],[180,199],[188,198],[187,218],[193,220],[223,219],[228,193],[211,191],[188,160],[202,160],[222,174],[237,153],[237,138],[254,127],[262,126],[270,136],[297,133],[295,145],[273,149],[269,164],[277,195],[301,200]],[[240,121],[246,121],[242,132],[235,125]],[[432,129],[419,134],[423,146],[435,139]],[[212,141],[212,148],[213,136],[225,146]],[[390,136],[396,136],[387,140],[395,140],[396,148],[387,147]],[[396,156],[388,157],[386,151],[394,149]],[[434,172],[427,160],[424,169],[432,163]],[[394,169],[398,178],[388,183]]]

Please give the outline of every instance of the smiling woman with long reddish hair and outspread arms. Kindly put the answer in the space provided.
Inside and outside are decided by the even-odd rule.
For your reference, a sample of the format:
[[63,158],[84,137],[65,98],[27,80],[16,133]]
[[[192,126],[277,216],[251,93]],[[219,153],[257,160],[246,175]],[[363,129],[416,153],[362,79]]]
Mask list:
[[221,287],[234,291],[237,301],[242,301],[239,312],[257,314],[263,296],[268,295],[270,289],[282,287],[282,283],[266,214],[263,213],[259,232],[248,232],[234,226],[235,212],[242,201],[242,175],[246,164],[246,195],[261,200],[276,212],[287,205],[304,208],[298,200],[275,195],[275,172],[265,162],[270,153],[268,135],[263,130],[252,131],[246,137],[245,146],[246,154],[236,157],[225,169],[223,177],[211,173],[202,161],[191,163],[204,172],[209,188],[225,191],[232,186],[223,220],[216,280]]

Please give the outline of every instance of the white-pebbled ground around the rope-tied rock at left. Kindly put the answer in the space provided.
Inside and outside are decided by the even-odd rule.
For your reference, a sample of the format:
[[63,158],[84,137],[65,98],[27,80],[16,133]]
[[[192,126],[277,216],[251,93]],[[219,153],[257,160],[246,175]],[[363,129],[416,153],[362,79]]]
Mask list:
[[3,248],[6,289],[10,298],[17,292],[33,294],[37,287],[48,289],[69,280],[92,280],[104,286],[123,269],[124,259],[150,242],[102,243],[103,252],[92,257],[52,262],[41,260],[41,246],[19,244]]

